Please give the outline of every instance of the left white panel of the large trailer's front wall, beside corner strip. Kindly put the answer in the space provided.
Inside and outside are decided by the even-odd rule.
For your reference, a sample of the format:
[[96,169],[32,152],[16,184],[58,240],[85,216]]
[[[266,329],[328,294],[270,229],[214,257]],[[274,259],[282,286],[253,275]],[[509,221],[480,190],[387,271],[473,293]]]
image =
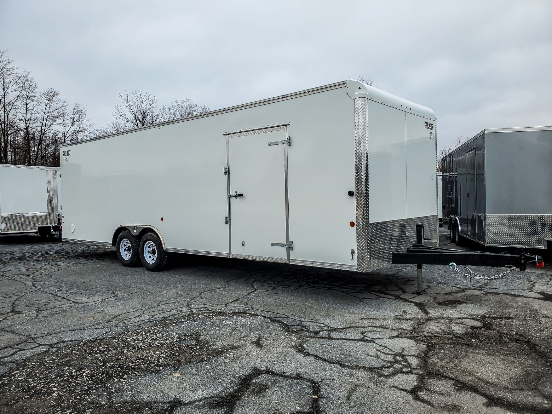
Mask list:
[[368,182],[370,222],[407,217],[405,112],[371,100],[368,101]]

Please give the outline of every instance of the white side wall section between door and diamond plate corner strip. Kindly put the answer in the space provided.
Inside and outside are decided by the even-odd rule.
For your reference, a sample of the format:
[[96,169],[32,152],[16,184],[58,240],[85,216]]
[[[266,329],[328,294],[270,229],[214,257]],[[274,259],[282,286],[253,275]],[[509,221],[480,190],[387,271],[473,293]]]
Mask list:
[[356,266],[354,100],[342,88],[301,101],[288,126],[290,259]]

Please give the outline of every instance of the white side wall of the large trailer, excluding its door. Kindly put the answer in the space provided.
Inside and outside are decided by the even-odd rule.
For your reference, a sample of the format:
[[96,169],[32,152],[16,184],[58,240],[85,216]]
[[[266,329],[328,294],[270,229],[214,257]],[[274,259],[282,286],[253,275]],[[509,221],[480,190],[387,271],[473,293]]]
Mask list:
[[62,206],[63,221],[75,224],[75,232],[67,237],[110,243],[121,224],[153,225],[169,249],[229,253],[222,134],[286,122],[290,255],[355,265],[349,226],[355,205],[347,195],[354,190],[354,101],[344,84],[70,146],[68,162],[62,159]]

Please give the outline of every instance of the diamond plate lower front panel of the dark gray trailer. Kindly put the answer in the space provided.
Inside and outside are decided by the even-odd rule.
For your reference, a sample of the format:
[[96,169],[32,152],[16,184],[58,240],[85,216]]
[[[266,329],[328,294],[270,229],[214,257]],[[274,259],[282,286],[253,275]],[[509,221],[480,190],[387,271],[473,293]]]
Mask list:
[[546,247],[552,214],[486,214],[485,245]]

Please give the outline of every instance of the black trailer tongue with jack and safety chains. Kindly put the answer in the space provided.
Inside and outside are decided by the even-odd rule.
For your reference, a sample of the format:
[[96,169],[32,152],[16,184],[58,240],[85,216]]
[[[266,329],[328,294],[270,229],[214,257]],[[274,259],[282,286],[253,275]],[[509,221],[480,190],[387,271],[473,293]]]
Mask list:
[[[423,225],[416,225],[416,243],[407,248],[406,252],[393,252],[393,264],[416,264],[418,267],[418,282],[417,293],[422,292],[422,267],[424,264],[447,264],[453,270],[463,274],[464,280],[467,278],[474,279],[500,279],[512,272],[513,269],[519,269],[524,272],[527,269],[528,262],[536,262],[537,268],[544,266],[542,257],[526,254],[524,247],[519,247],[510,254],[505,253],[488,253],[462,251],[455,249],[447,249],[442,247],[424,246],[423,241],[429,240],[424,237]],[[464,273],[457,268],[457,264],[463,264],[468,269],[469,273]],[[467,266],[492,266],[492,267],[508,267],[508,270],[493,276],[481,276],[473,272]]]

